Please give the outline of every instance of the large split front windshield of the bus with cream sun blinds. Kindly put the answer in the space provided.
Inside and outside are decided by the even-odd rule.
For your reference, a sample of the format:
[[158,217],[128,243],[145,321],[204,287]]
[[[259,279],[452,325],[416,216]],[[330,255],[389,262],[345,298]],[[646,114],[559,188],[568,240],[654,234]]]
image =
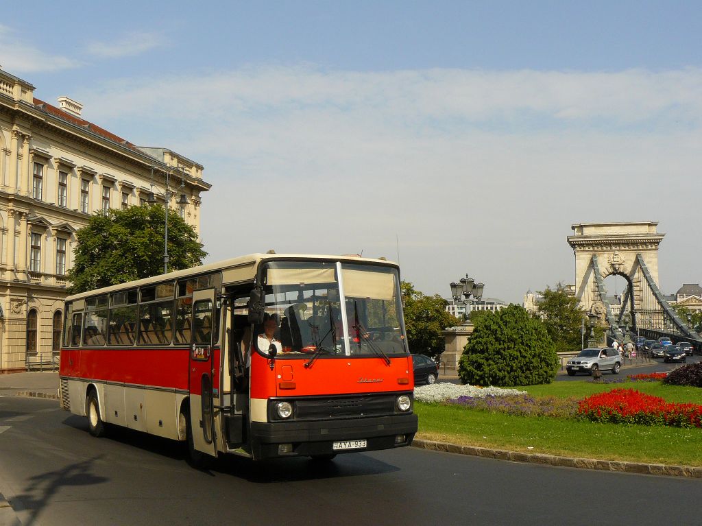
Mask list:
[[[265,268],[265,321],[256,346],[277,357],[408,353],[397,270],[380,265],[272,261]],[[266,327],[267,326],[267,327]]]

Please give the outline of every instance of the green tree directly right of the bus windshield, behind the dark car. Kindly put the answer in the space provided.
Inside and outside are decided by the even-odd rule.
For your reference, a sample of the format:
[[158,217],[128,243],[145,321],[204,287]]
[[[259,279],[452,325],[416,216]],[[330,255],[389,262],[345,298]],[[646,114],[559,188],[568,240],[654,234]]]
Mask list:
[[406,281],[400,287],[409,351],[430,357],[440,355],[444,352],[444,329],[461,321],[446,312],[449,302],[439,294],[425,296]]

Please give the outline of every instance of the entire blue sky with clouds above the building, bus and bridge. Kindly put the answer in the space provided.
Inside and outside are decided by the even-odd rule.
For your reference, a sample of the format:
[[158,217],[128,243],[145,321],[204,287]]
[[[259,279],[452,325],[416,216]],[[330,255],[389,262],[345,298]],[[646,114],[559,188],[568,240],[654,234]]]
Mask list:
[[[38,1],[4,8],[0,65],[38,98],[69,96],[86,119],[203,164],[210,261],[397,258],[399,239],[425,293],[468,272],[521,301],[574,279],[571,223],[660,221],[672,292],[701,280],[701,11]],[[260,224],[232,232],[232,209]]]

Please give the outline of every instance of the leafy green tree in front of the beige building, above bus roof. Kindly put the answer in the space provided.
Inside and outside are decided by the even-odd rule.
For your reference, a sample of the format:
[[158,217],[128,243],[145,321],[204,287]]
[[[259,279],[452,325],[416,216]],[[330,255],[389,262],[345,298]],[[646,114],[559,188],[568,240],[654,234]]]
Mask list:
[[[130,206],[92,216],[76,232],[71,294],[163,273],[165,219],[160,205]],[[170,210],[168,270],[199,265],[206,255],[195,230]]]

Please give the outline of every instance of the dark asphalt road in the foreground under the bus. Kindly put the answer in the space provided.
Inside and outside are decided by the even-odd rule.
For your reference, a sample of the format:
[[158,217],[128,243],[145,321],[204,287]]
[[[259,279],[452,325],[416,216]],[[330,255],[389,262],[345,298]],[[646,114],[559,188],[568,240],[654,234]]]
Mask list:
[[0,397],[0,492],[24,525],[641,526],[699,524],[702,480],[414,448],[196,471],[176,442],[96,439],[53,400]]

